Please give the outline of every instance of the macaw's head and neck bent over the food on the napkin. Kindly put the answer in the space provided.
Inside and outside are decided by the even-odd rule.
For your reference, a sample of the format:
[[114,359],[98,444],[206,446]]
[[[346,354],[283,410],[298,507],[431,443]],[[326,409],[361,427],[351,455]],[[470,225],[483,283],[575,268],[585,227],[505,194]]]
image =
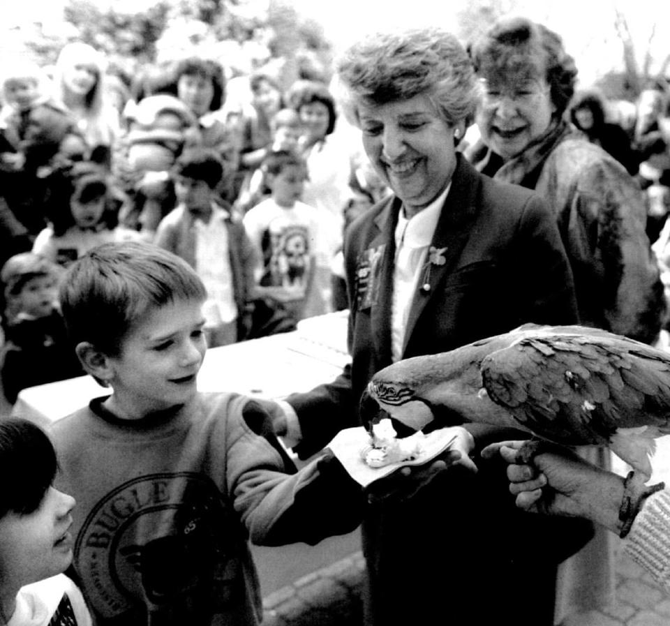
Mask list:
[[400,437],[463,422],[485,422],[487,412],[500,412],[482,394],[482,359],[509,343],[506,335],[476,341],[438,355],[412,357],[373,375],[362,395],[360,416],[368,431],[390,417]]

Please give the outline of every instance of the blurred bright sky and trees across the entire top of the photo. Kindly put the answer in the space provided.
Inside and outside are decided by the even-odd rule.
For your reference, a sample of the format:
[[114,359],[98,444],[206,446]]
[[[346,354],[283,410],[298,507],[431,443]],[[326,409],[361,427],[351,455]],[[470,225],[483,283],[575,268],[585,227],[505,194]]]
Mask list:
[[[10,1],[27,6],[32,0]],[[45,10],[61,10],[57,27],[38,11],[10,28],[17,45],[49,66],[64,43],[83,40],[128,75],[147,61],[197,50],[220,61],[229,78],[263,66],[285,86],[304,76],[329,80],[338,43],[364,31],[442,24],[468,42],[513,13],[560,33],[583,86],[596,84],[610,98],[634,100],[650,83],[667,85],[670,66],[670,3],[658,0],[412,0],[411,7],[406,0],[48,1]],[[7,39],[0,47],[6,49]]]

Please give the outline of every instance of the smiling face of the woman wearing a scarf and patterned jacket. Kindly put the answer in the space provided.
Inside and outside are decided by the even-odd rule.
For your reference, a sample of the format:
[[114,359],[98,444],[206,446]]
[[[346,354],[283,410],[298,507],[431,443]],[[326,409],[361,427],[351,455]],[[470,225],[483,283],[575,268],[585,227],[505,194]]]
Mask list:
[[556,107],[544,78],[501,73],[482,79],[477,125],[482,139],[504,159],[521,154],[549,128]]

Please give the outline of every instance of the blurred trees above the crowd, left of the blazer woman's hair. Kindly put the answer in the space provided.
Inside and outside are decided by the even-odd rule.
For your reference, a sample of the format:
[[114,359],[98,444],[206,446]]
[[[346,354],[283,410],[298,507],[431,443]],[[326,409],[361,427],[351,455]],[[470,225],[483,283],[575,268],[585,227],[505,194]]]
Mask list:
[[269,66],[285,84],[310,75],[329,80],[332,50],[322,26],[290,0],[67,0],[62,28],[36,17],[14,29],[27,52],[48,67],[68,41],[105,52],[132,76],[147,62],[191,52],[216,59],[228,78]]

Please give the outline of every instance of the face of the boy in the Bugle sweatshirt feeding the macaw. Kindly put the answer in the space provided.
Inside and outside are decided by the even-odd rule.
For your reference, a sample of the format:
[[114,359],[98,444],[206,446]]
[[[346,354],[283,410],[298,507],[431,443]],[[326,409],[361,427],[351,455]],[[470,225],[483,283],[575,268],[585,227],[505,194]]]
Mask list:
[[140,419],[191,401],[207,350],[203,326],[198,300],[179,300],[144,315],[121,341],[119,355],[105,357],[114,389],[107,408]]

